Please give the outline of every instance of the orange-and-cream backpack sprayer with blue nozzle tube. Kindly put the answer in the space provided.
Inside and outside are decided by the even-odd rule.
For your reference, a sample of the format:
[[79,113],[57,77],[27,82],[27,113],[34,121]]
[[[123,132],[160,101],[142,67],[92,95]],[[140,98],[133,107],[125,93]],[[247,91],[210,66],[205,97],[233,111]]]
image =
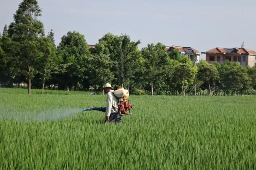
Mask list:
[[[132,105],[129,97],[129,91],[124,88],[119,88],[114,91],[114,95],[118,98],[117,108],[118,108],[118,115],[129,115],[131,113]],[[106,108],[103,107],[93,107],[93,108],[84,108],[83,111],[102,111],[105,112]]]

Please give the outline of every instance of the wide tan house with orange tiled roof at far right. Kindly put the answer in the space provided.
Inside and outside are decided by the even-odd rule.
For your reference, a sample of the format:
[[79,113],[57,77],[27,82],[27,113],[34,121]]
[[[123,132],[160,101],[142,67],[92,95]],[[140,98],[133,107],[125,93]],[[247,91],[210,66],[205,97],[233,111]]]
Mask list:
[[219,62],[223,64],[226,60],[239,62],[242,66],[253,67],[256,63],[256,52],[245,48],[213,48],[206,52],[206,61],[209,63]]

